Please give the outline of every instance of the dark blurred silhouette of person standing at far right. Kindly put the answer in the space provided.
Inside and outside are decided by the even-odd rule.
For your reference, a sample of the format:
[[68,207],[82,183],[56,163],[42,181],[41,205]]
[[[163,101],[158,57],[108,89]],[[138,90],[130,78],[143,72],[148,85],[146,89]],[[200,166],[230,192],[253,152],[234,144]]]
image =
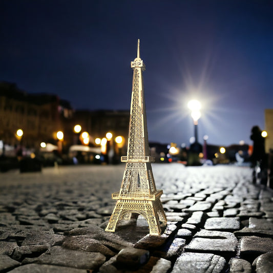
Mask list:
[[[264,138],[262,137],[262,130],[259,126],[254,126],[251,129],[250,139],[253,140],[253,153],[250,156],[251,166],[253,171],[253,182],[256,183],[256,175],[261,179],[261,184],[267,182],[267,164]],[[260,171],[259,171],[260,169]]]

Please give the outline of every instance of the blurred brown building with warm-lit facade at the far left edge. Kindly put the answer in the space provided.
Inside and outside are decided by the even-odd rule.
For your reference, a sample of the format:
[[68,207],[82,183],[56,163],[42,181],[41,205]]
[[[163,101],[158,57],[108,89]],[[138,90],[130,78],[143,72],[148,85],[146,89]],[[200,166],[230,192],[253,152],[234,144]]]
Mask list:
[[56,95],[28,94],[14,83],[0,82],[0,139],[18,144],[16,131],[22,129],[22,144],[37,148],[60,130],[62,109]]

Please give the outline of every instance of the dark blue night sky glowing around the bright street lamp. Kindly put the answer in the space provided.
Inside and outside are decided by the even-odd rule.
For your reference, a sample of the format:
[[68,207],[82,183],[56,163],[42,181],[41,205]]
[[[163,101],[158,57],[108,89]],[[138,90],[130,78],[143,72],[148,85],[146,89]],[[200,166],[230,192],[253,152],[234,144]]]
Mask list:
[[[229,145],[273,108],[272,1],[0,0],[0,80],[74,109],[129,110],[131,61],[146,65],[149,141]],[[92,134],[92,132],[91,132]]]

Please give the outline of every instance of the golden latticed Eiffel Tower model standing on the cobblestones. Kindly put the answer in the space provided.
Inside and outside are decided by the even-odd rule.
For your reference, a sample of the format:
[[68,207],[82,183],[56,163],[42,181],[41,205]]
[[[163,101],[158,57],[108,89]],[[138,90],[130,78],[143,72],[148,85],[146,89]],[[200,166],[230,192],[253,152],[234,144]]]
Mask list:
[[142,71],[145,70],[140,58],[139,39],[137,57],[131,62],[133,86],[130,110],[129,138],[126,162],[120,191],[112,194],[116,205],[106,227],[107,232],[115,232],[119,220],[130,220],[142,215],[149,224],[150,235],[160,235],[160,222],[166,225],[167,219],[160,201],[162,190],[157,190],[153,176],[148,144],[148,130],[143,92]]

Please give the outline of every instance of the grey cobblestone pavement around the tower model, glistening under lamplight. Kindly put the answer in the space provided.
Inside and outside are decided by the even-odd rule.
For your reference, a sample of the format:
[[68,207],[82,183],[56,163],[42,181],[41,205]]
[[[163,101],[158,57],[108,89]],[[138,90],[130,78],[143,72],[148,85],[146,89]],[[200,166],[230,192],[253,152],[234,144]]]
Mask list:
[[0,272],[272,272],[273,194],[238,166],[153,164],[167,216],[106,233],[124,165],[0,174]]

